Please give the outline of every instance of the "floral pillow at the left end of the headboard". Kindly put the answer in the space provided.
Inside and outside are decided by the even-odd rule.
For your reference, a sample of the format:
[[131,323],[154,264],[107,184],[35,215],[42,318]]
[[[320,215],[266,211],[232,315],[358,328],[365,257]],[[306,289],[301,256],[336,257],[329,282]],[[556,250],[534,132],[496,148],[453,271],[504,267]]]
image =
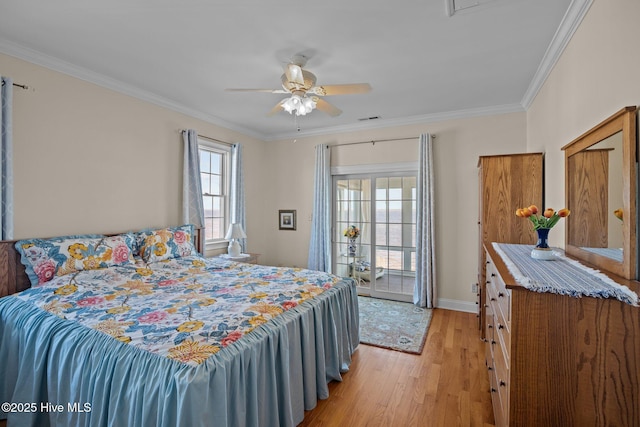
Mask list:
[[32,286],[54,276],[134,263],[133,234],[117,236],[68,236],[54,239],[29,239],[16,242],[22,264]]

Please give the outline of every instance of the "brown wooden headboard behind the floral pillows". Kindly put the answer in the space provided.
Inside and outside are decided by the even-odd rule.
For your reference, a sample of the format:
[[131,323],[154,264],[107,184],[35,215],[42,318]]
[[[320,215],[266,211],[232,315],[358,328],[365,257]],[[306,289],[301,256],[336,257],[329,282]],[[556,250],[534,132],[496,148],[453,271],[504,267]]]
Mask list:
[[[110,233],[116,236],[120,233]],[[200,251],[204,242],[204,228],[196,228],[193,244]],[[20,262],[20,253],[15,248],[17,240],[0,240],[0,298],[15,294],[31,287],[31,282]]]

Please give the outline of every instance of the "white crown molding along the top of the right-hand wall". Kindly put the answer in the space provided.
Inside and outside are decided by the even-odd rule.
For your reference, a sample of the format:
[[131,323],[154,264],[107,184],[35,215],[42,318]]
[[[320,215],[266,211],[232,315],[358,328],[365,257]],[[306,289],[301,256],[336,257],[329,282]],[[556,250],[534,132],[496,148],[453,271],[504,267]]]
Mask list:
[[592,3],[593,0],[573,0],[569,5],[567,13],[565,13],[562,18],[562,22],[554,34],[551,43],[549,43],[549,47],[547,47],[547,51],[538,66],[536,74],[533,76],[529,88],[522,98],[522,107],[525,110],[531,107],[533,100],[540,89],[542,89],[544,82],[547,80],[547,77],[549,77],[549,74],[551,74],[551,70],[553,70],[553,67],[560,59],[560,56],[580,26],[582,19],[589,11]]

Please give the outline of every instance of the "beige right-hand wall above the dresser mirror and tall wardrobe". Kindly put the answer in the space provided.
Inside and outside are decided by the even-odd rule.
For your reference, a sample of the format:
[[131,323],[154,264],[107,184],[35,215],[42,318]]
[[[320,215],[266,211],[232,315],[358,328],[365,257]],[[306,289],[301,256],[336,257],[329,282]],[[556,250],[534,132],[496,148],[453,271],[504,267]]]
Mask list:
[[[627,105],[640,104],[637,0],[594,0],[527,111],[528,151],[545,151],[546,203],[563,207],[561,148]],[[564,222],[550,235],[564,247]]]

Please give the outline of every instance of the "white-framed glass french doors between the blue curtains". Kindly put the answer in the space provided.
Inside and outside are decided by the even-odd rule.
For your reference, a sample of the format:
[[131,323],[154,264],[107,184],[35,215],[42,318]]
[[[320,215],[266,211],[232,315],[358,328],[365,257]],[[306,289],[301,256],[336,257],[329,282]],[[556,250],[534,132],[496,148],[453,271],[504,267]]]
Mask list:
[[[333,177],[333,271],[358,293],[411,301],[416,280],[416,174]],[[349,248],[345,230],[360,235]]]

